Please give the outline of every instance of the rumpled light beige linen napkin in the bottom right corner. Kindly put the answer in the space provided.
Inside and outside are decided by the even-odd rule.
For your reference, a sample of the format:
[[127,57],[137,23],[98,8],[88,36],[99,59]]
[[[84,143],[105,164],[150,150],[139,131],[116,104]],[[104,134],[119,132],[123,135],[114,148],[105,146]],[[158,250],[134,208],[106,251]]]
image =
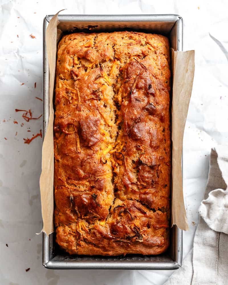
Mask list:
[[228,146],[211,149],[193,249],[164,285],[228,284]]

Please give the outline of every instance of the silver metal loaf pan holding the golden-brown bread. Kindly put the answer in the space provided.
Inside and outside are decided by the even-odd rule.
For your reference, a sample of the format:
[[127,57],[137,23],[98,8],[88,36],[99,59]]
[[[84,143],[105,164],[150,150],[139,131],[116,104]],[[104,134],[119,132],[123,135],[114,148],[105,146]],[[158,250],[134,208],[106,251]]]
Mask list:
[[[43,24],[43,137],[49,118],[49,67],[45,44],[46,28],[53,15]],[[183,21],[178,15],[59,15],[58,28],[63,33],[79,31],[134,30],[158,33],[169,37],[170,47],[183,48]],[[57,43],[56,43],[57,44]],[[126,257],[70,256],[55,246],[55,234],[43,233],[43,265],[50,269],[178,269],[182,263],[182,230],[171,228],[170,247],[158,256],[129,255]]]

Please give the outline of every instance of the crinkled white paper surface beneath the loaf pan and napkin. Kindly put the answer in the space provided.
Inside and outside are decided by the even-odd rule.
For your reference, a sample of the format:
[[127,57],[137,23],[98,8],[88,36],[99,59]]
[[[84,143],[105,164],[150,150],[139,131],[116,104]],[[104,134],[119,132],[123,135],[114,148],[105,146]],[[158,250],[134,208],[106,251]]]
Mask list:
[[42,114],[42,102],[35,96],[42,97],[42,24],[46,15],[67,8],[61,14],[182,16],[184,50],[196,50],[194,87],[184,133],[184,197],[190,226],[184,233],[185,256],[192,247],[198,222],[210,149],[217,143],[227,144],[226,1],[0,0],[0,4],[0,284],[163,284],[172,271],[54,271],[42,266],[42,235],[35,234],[42,228],[42,140],[38,137],[30,145],[23,141],[39,133],[42,119],[27,123],[15,108],[31,109],[34,117]]

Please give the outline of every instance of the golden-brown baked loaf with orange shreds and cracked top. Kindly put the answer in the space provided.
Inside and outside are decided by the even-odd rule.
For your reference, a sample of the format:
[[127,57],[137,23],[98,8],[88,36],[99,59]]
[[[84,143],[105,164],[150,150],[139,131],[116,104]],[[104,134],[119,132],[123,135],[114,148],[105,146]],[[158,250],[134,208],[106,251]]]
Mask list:
[[169,42],[142,32],[63,36],[56,62],[54,222],[70,254],[169,245]]

